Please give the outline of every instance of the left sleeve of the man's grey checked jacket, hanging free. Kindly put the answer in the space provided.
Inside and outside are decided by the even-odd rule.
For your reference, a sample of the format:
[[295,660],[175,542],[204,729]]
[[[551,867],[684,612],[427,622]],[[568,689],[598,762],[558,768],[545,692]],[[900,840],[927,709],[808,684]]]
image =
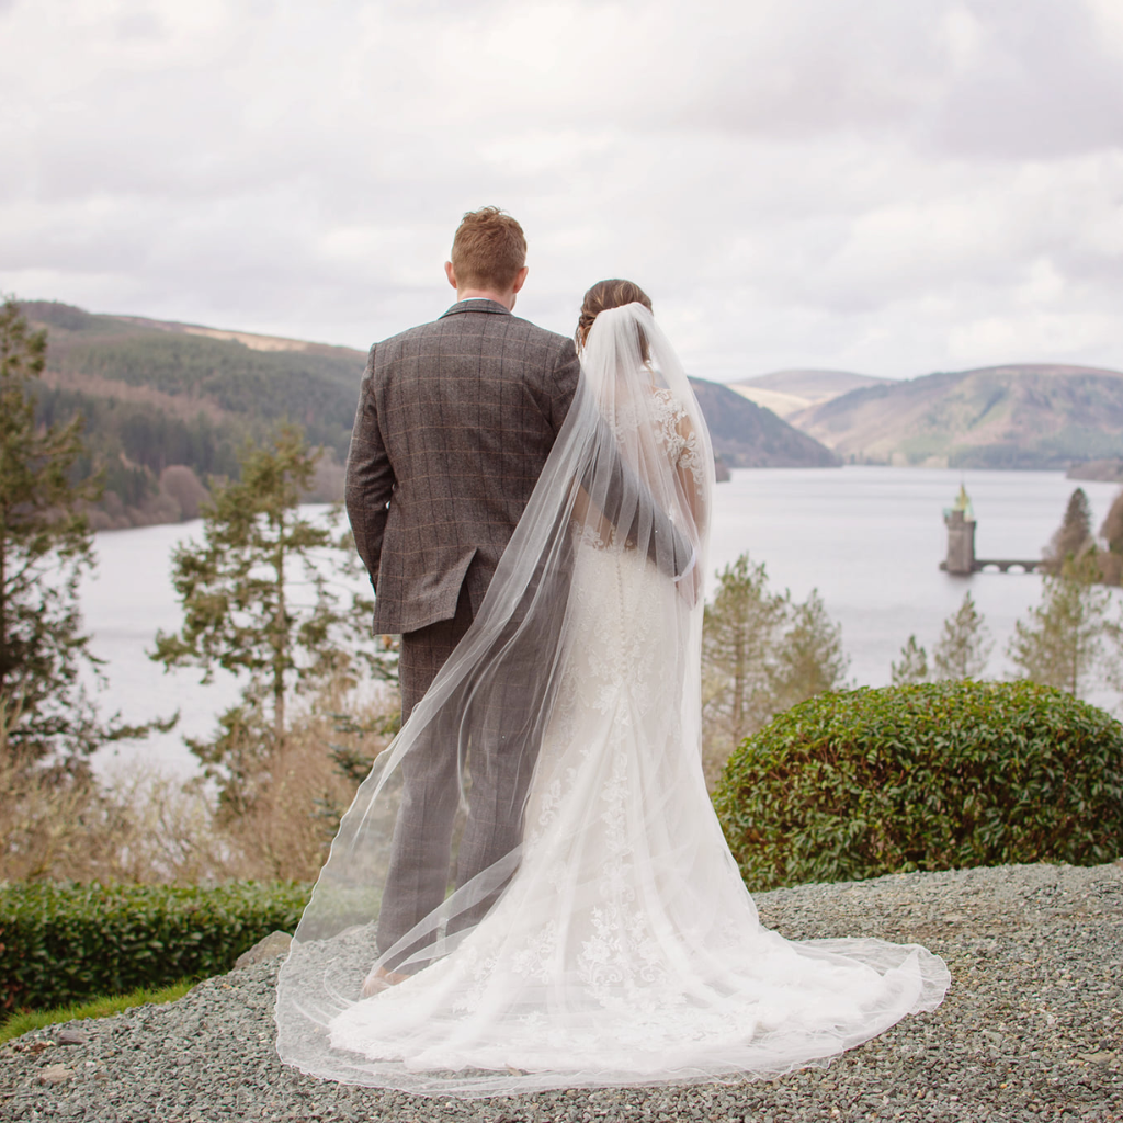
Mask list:
[[386,530],[386,517],[395,483],[394,471],[382,441],[382,430],[378,428],[374,396],[374,351],[375,348],[372,347],[363,373],[344,484],[344,499],[351,533],[355,536],[355,548],[371,575],[372,586],[375,586],[378,576],[382,538]]

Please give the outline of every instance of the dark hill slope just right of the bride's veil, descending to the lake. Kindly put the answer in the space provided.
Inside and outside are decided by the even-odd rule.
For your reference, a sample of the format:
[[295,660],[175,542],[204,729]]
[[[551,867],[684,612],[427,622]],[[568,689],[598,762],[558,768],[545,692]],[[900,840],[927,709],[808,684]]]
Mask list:
[[734,468],[830,468],[841,462],[829,448],[800,432],[772,410],[729,386],[691,378],[714,454]]

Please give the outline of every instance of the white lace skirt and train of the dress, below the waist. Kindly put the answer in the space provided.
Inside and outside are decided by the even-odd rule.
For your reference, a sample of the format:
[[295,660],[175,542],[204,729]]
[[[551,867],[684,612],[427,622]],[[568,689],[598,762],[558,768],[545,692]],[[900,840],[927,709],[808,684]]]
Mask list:
[[[621,1085],[823,1062],[949,977],[921,947],[760,925],[713,813],[666,577],[577,546],[575,627],[505,895],[440,960],[334,1020],[331,1043],[477,1090]],[[682,599],[672,611],[687,612]],[[684,712],[685,711],[685,712]],[[684,739],[685,734],[685,739]]]

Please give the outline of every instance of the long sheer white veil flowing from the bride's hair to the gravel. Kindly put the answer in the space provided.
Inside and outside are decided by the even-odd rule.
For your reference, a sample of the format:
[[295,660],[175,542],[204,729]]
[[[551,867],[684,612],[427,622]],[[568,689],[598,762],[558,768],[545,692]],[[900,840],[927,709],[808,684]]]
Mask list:
[[[546,789],[559,780],[546,775],[558,767],[557,752],[546,759],[540,748],[557,722],[567,667],[575,656],[599,655],[588,649],[594,638],[582,631],[581,602],[591,595],[591,581],[617,579],[621,560],[652,575],[643,588],[645,611],[656,610],[647,641],[658,645],[666,664],[661,685],[677,695],[681,751],[697,759],[697,590],[713,485],[709,436],[674,350],[642,305],[602,312],[582,366],[574,402],[471,630],[356,794],[296,930],[279,983],[277,1048],[282,1059],[309,1072],[416,1090],[447,1087],[437,1075],[330,1043],[334,1020],[360,1001],[373,968],[413,975],[448,956],[494,909],[522,860],[519,844],[392,946],[376,943],[394,823],[400,810],[410,813],[400,807],[402,769],[414,754],[458,763],[454,856],[471,844],[478,772],[496,755],[517,777],[503,789],[506,805],[487,813],[522,823],[530,800],[540,814]],[[668,522],[677,533],[668,533]],[[582,556],[593,551],[596,575],[582,566]],[[611,660],[620,652],[600,655]],[[602,669],[611,678],[613,668]]]

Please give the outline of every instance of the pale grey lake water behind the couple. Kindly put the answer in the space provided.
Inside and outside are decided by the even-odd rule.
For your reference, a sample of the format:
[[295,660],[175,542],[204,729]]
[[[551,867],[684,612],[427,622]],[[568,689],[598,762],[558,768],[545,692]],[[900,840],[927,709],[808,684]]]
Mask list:
[[[995,638],[988,674],[1001,677],[1014,622],[1038,603],[1041,579],[1031,574],[979,573],[952,577],[938,567],[946,551],[943,508],[965,483],[978,519],[979,557],[1038,558],[1060,523],[1074,487],[1061,473],[958,472],[925,468],[764,468],[733,472],[716,490],[711,542],[713,572],[748,550],[764,562],[774,588],[802,600],[818,588],[842,626],[850,675],[869,686],[889,681],[889,664],[915,632],[931,654],[944,618],[970,590]],[[1119,485],[1083,483],[1098,529]],[[203,686],[199,673],[164,674],[146,657],[157,629],[181,622],[171,586],[176,542],[198,538],[201,524],[146,527],[97,536],[95,576],[83,586],[82,604],[93,651],[107,660],[106,712],[128,721],[179,709],[180,725],[138,745],[99,755],[99,767],[149,760],[181,774],[194,769],[183,736],[204,736],[214,715],[238,694],[218,672]],[[1115,696],[1092,701],[1114,705]]]

